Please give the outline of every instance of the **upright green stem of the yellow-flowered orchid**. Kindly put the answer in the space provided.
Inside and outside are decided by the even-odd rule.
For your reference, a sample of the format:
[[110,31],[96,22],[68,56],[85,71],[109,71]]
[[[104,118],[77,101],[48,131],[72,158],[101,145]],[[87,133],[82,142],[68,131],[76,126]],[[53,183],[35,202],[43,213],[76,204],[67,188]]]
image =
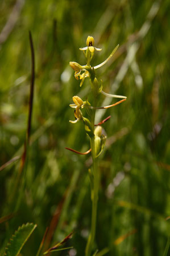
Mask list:
[[[92,114],[92,127],[94,127],[94,117],[95,117],[96,111],[93,111]],[[92,159],[93,159],[93,184],[92,184],[92,191],[91,191],[91,197],[92,197],[92,221],[91,221],[91,231],[88,238],[88,242],[86,245],[85,255],[90,256],[93,249],[93,243],[94,238],[96,234],[96,217],[97,217],[97,201],[98,201],[98,163],[96,158],[96,152],[95,152],[95,137],[91,138],[91,147],[92,147]]]

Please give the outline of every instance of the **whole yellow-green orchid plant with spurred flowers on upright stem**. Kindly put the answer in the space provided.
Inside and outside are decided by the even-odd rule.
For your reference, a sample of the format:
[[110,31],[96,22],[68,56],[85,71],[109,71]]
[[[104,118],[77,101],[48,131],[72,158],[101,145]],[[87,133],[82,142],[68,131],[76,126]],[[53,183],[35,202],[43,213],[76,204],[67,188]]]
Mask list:
[[[70,62],[70,66],[75,71],[74,77],[79,80],[80,79],[80,87],[84,83],[85,79],[88,78],[92,94],[93,94],[93,106],[91,103],[86,99],[86,101],[83,101],[80,97],[77,95],[73,97],[73,104],[70,106],[74,108],[74,121],[69,121],[71,123],[77,123],[78,121],[84,122],[85,131],[88,137],[90,138],[90,149],[86,151],[85,153],[81,153],[77,150],[71,149],[66,147],[66,149],[73,151],[77,154],[92,154],[92,170],[89,169],[89,176],[90,176],[90,185],[91,185],[91,199],[92,199],[92,222],[91,222],[91,231],[88,237],[88,242],[85,249],[85,256],[90,256],[92,254],[92,250],[94,249],[94,239],[96,234],[96,217],[97,217],[97,202],[98,202],[98,157],[102,153],[102,150],[105,146],[106,136],[102,133],[102,123],[106,122],[109,118],[107,117],[103,121],[99,122],[97,125],[95,125],[95,115],[96,110],[98,109],[108,109],[109,107],[113,107],[118,105],[119,103],[122,103],[123,101],[126,101],[126,97],[122,95],[113,95],[113,94],[107,94],[103,91],[103,82],[101,80],[101,83],[99,83],[97,77],[96,77],[96,69],[99,67],[102,67],[105,65],[106,62],[109,61],[109,59],[113,56],[115,51],[118,49],[117,45],[115,49],[112,51],[110,56],[103,61],[101,64],[97,66],[91,66],[90,63],[92,61],[92,58],[94,56],[95,51],[101,51],[102,49],[99,49],[97,47],[94,47],[94,38],[91,36],[88,36],[86,40],[86,47],[80,48],[81,51],[83,51],[85,58],[86,58],[86,65],[80,65],[77,62]],[[99,94],[103,94],[106,97],[113,97],[113,98],[121,98],[120,101],[113,103],[109,106],[98,106],[98,96]],[[86,110],[87,117],[84,117],[84,114],[82,113],[82,109]],[[95,253],[96,255],[96,253]]]

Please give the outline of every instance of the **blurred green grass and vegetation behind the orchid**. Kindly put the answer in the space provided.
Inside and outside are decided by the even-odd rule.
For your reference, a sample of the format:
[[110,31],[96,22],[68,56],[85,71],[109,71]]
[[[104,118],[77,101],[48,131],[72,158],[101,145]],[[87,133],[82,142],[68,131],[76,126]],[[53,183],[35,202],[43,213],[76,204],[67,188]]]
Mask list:
[[[94,65],[120,47],[98,71],[107,92],[127,101],[98,111],[107,134],[100,156],[96,243],[106,255],[164,255],[168,241],[170,112],[170,2],[127,0],[1,0],[0,166],[23,153],[28,118],[31,54],[35,49],[35,95],[30,148],[18,182],[20,158],[0,171],[1,255],[23,223],[38,225],[22,250],[36,255],[74,230],[70,251],[84,255],[90,230],[89,149],[82,123],[72,125],[72,96],[86,98],[69,61],[85,64],[79,47],[92,35]],[[112,101],[113,102],[113,101]],[[101,106],[109,103],[101,96]],[[9,215],[12,214],[12,215]],[[119,239],[118,239],[119,238]],[[77,253],[77,254],[76,254]]]

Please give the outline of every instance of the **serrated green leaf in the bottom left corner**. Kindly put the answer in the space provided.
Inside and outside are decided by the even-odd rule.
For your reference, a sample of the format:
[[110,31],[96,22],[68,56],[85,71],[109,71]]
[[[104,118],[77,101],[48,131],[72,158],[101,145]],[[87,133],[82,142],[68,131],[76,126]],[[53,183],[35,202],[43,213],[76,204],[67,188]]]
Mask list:
[[37,225],[34,225],[33,223],[27,223],[19,227],[11,237],[10,242],[7,244],[5,256],[18,256],[20,250],[27,242],[36,226]]

